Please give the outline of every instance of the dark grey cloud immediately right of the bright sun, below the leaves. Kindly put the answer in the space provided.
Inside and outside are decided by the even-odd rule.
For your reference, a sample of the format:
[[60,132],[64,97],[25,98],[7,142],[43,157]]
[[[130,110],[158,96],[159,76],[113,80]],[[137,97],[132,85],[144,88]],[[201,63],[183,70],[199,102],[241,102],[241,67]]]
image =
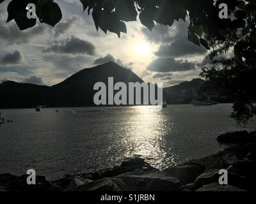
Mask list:
[[191,55],[203,55],[207,50],[203,47],[194,45],[187,38],[177,38],[171,44],[164,44],[155,53],[158,57],[184,57]]

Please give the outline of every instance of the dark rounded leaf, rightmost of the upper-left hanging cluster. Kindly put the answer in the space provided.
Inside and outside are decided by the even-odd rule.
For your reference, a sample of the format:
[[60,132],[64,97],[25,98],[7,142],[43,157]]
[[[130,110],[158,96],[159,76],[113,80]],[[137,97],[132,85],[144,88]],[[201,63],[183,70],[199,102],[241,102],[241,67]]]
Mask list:
[[54,27],[62,18],[60,7],[57,3],[47,1],[42,8],[42,22]]

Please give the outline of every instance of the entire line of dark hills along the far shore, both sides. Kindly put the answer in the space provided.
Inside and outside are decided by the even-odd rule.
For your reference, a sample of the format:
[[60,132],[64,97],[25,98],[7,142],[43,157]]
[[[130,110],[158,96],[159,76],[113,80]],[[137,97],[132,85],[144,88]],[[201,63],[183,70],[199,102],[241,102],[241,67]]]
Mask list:
[[[114,83],[124,82],[127,85],[129,82],[143,83],[143,80],[131,70],[122,68],[115,62],[108,62],[94,68],[83,69],[52,87],[3,82],[0,84],[0,108],[35,108],[37,105],[93,106],[93,96],[97,92],[93,91],[93,86],[97,82],[108,85],[108,77],[113,77]],[[192,99],[205,97],[201,89],[203,85],[204,80],[200,78],[191,82],[182,82],[179,85],[164,88],[163,98],[168,104],[190,103]],[[216,96],[216,99],[220,101],[218,97]]]

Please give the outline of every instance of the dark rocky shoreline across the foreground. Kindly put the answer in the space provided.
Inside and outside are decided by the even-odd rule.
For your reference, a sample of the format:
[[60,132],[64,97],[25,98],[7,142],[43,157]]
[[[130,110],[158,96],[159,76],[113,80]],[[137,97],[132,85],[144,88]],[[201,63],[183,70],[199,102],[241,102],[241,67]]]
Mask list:
[[[47,181],[36,176],[0,175],[0,191],[255,191],[256,131],[226,133],[217,138],[227,145],[223,151],[159,171],[141,158],[124,161],[111,170],[66,175]],[[228,185],[218,182],[219,171],[228,171]]]

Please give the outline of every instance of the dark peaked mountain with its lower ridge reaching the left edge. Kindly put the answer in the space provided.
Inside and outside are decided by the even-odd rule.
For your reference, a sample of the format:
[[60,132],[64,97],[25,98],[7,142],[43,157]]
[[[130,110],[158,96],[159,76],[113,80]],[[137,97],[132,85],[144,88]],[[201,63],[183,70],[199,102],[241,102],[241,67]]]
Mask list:
[[31,108],[36,105],[46,106],[90,106],[93,105],[93,85],[104,82],[108,77],[114,83],[140,82],[140,77],[131,70],[122,68],[115,62],[108,62],[94,68],[83,69],[60,84],[52,87],[17,82],[0,84],[0,108]]

